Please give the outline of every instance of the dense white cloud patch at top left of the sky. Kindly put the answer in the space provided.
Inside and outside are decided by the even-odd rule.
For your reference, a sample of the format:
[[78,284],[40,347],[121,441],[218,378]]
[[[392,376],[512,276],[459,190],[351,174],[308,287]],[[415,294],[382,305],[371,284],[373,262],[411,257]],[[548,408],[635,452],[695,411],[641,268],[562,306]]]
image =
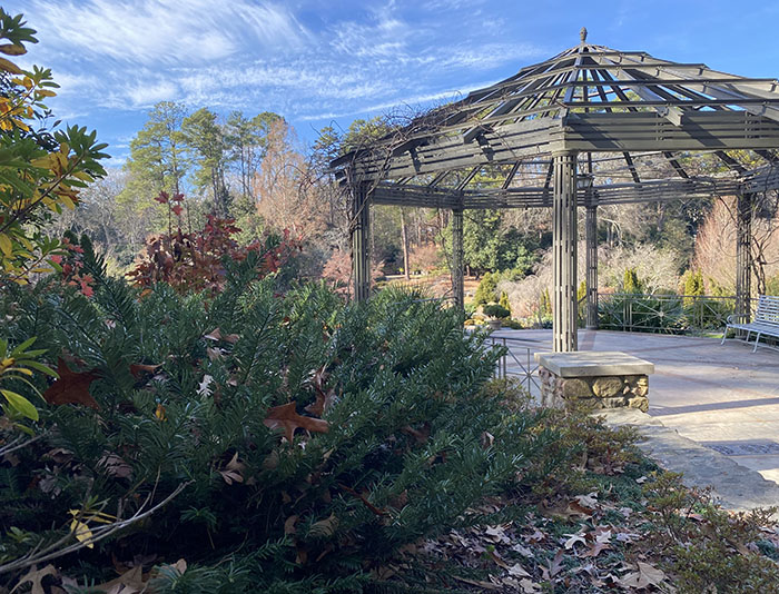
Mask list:
[[33,0],[27,17],[75,58],[149,66],[224,59],[246,42],[297,48],[308,36],[283,6],[250,0]]

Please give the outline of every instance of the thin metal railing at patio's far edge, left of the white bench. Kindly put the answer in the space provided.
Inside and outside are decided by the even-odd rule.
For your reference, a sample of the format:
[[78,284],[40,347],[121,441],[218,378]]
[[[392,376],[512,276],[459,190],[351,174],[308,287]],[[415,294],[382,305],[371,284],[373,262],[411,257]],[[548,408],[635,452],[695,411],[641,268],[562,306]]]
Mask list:
[[[689,334],[722,330],[736,297],[615,293],[598,295],[599,328]],[[757,299],[752,299],[753,305]]]

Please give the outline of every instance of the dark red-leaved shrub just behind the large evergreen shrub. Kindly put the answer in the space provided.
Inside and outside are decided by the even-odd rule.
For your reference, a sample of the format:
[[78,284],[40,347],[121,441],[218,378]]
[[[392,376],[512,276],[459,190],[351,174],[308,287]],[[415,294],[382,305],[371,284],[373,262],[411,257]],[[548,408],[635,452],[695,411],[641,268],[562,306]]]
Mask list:
[[[169,198],[162,192],[157,201],[168,204],[170,210],[180,215],[180,194]],[[171,202],[176,202],[170,206]],[[198,232],[185,232],[180,227],[175,231],[152,237],[140,261],[128,276],[142,287],[155,283],[170,284],[177,290],[209,289],[218,293],[225,280],[225,257],[231,261],[243,261],[250,253],[259,255],[257,276],[262,278],[277,271],[282,265],[300,249],[300,244],[285,230],[278,245],[255,241],[240,246],[234,236],[240,232],[235,219],[208,215],[205,227]]]

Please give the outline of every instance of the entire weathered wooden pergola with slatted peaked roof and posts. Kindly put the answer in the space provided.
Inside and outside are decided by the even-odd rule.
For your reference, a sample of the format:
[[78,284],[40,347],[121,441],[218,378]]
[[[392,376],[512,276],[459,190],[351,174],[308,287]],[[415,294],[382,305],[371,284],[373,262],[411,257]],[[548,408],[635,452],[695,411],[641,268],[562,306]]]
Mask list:
[[[461,307],[463,210],[551,207],[553,347],[576,350],[576,207],[586,209],[586,325],[595,327],[598,206],[719,195],[738,197],[737,314],[749,315],[753,199],[779,188],[777,148],[777,80],[593,46],[582,29],[578,46],[333,161],[352,198],[355,297],[369,291],[372,204],[452,210]],[[682,162],[690,154],[713,155],[724,171],[692,175]],[[765,165],[746,166],[745,154]],[[642,179],[637,164],[650,155],[673,177]],[[614,162],[625,180],[604,169]],[[503,182],[474,182],[485,168],[502,171]]]

